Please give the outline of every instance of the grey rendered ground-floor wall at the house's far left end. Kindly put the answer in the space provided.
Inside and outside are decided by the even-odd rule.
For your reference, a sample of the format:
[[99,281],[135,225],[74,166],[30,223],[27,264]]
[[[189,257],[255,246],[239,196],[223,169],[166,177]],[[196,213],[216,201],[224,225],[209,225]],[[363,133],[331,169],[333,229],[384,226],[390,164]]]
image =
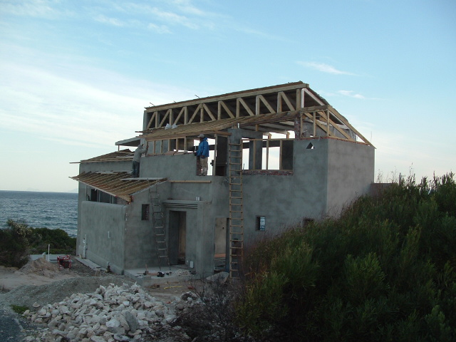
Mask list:
[[86,238],[87,259],[103,267],[109,263],[113,271],[122,273],[127,206],[83,201],[80,208],[79,253],[83,254],[83,239]]

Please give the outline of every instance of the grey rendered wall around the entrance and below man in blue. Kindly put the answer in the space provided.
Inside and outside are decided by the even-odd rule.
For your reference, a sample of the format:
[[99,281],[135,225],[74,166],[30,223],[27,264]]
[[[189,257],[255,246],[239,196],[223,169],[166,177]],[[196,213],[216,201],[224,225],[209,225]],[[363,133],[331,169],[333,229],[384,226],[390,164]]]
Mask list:
[[[209,161],[210,162],[210,161]],[[194,262],[199,274],[212,274],[214,264],[214,217],[228,217],[227,178],[198,177],[196,175],[196,157],[186,155],[152,155],[141,160],[140,177],[167,177],[167,187],[160,192],[164,200],[165,226],[169,228],[170,211],[186,212],[186,261]],[[178,181],[210,181],[172,182]],[[199,200],[197,200],[199,197]],[[167,229],[170,255],[177,246],[176,234]],[[171,234],[171,236],[170,236]]]

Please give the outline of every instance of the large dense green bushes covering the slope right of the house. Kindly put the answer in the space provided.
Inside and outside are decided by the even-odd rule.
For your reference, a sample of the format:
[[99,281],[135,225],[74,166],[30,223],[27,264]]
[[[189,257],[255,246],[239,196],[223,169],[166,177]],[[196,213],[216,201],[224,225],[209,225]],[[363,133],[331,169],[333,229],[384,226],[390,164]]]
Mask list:
[[261,341],[455,341],[456,183],[393,183],[246,251],[236,319]]

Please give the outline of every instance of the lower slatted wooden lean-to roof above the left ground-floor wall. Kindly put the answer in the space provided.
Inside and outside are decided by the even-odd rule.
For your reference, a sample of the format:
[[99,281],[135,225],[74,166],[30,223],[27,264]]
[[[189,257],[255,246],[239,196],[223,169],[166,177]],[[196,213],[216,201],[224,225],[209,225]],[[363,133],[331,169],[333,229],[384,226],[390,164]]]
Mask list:
[[132,195],[166,178],[131,178],[130,172],[83,172],[70,177],[109,195],[132,202]]

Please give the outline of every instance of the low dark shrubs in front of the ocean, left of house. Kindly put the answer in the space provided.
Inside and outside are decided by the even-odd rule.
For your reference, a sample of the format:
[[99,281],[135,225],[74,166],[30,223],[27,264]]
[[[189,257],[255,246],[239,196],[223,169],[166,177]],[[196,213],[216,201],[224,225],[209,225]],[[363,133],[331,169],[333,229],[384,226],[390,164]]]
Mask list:
[[0,229],[0,265],[21,267],[29,254],[74,254],[76,238],[62,229],[32,228],[24,222],[9,219],[8,227]]

